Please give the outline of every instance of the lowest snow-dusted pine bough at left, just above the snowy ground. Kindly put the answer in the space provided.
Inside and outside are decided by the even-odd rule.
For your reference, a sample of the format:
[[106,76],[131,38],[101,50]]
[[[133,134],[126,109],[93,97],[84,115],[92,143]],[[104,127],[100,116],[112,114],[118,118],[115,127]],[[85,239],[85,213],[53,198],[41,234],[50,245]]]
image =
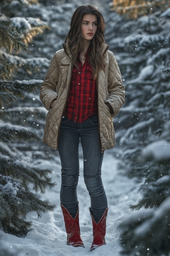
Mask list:
[[19,182],[0,175],[0,203],[4,203],[4,201],[8,212],[5,216],[0,214],[0,227],[4,232],[18,237],[26,235],[32,225],[31,222],[24,220],[27,213],[35,211],[39,218],[41,212],[53,211],[56,207],[48,200],[39,200],[32,192],[23,188]]

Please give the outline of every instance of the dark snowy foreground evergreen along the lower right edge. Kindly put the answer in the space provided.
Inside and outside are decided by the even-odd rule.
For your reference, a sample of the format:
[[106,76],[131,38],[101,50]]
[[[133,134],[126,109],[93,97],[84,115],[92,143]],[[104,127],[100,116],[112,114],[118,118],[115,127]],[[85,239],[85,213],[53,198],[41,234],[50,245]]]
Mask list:
[[[162,72],[169,73],[170,69]],[[170,95],[166,95],[164,108],[170,115]],[[168,118],[170,119],[170,118]],[[136,205],[130,205],[132,211],[141,208],[152,209],[126,218],[122,228],[122,254],[169,256],[170,253],[170,122],[156,135],[161,140],[144,148],[140,160],[149,161],[145,168],[145,183],[141,185],[143,198]]]

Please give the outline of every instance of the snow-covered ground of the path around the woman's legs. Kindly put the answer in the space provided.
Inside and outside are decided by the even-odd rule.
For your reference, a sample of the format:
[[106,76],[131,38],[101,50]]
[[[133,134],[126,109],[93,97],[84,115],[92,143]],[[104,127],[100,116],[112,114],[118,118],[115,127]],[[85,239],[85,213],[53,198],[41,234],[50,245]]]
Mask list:
[[[80,148],[80,177],[78,184],[78,200],[80,207],[80,228],[81,237],[85,248],[73,247],[66,245],[66,231],[64,219],[60,207],[60,185],[61,185],[61,165],[58,153],[56,152],[56,160],[47,161],[37,159],[34,165],[39,168],[53,169],[53,181],[57,185],[47,190],[46,194],[40,196],[41,199],[49,199],[56,203],[57,207],[54,212],[43,214],[43,217],[37,219],[35,213],[28,215],[28,220],[33,222],[31,231],[25,238],[18,238],[11,234],[0,232],[1,248],[11,248],[11,252],[15,252],[15,256],[120,256],[121,230],[118,228],[123,217],[131,215],[128,205],[134,204],[141,196],[138,192],[139,184],[134,180],[128,179],[125,175],[126,170],[117,168],[119,156],[115,155],[115,150],[107,150],[104,152],[104,160],[102,166],[102,179],[108,199],[108,215],[106,228],[106,245],[90,252],[92,243],[92,223],[89,214],[90,198],[86,190],[83,179],[83,160],[81,158]],[[0,251],[1,255],[1,251]]]

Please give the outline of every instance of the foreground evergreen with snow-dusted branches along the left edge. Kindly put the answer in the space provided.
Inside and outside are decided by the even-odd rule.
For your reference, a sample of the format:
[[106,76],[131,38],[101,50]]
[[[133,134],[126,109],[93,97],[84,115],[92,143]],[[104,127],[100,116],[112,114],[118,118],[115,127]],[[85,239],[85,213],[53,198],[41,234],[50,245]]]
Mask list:
[[[1,1],[1,4],[11,1]],[[26,2],[26,1],[25,1]],[[29,2],[29,1],[28,1]],[[18,41],[19,33],[12,29],[12,21],[4,19],[0,21],[0,41],[1,58],[0,72],[1,77],[9,77],[11,66],[5,59],[4,50],[7,52],[16,52],[24,49],[25,44]],[[25,43],[28,41],[26,37]],[[0,108],[10,105],[18,97],[24,99],[26,93],[31,93],[41,85],[41,80],[31,81],[0,81]],[[8,144],[12,140],[36,140],[40,141],[36,132],[18,125],[5,124],[3,121],[3,110],[1,111],[0,123],[0,142]],[[14,234],[15,236],[25,236],[31,227],[31,221],[26,221],[27,213],[35,211],[38,217],[47,211],[53,211],[55,205],[48,200],[40,200],[34,195],[29,184],[33,185],[33,190],[42,194],[46,188],[52,188],[55,183],[52,182],[49,174],[50,169],[39,169],[36,166],[16,158],[14,155],[4,155],[3,148],[0,150],[0,229],[4,232]],[[15,152],[15,155],[17,152]]]

